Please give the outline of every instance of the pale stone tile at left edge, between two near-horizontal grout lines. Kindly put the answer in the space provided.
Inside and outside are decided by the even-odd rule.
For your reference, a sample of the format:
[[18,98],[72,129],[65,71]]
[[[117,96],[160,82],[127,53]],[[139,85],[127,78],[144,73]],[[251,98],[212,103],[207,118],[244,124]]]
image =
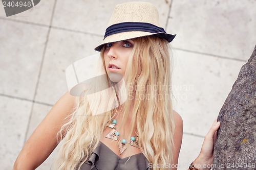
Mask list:
[[48,28],[0,19],[0,93],[32,100]]

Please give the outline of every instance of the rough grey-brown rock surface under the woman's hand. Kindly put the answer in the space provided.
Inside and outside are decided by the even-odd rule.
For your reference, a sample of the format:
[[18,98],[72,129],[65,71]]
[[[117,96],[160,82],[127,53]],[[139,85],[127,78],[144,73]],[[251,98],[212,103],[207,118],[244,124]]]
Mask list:
[[256,46],[220,110],[213,169],[256,169]]

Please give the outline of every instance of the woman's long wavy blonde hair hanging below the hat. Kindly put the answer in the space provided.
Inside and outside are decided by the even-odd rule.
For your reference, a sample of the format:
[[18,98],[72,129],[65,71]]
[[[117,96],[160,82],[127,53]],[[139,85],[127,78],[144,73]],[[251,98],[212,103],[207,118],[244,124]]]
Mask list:
[[[141,152],[152,164],[169,164],[173,158],[174,118],[168,44],[155,36],[133,40],[134,47],[124,76],[128,100],[119,107],[123,116],[122,128],[132,108],[131,127],[136,122],[135,132],[139,136]],[[101,50],[103,65],[104,50],[105,47]],[[108,76],[98,84],[104,86],[102,89],[113,86]],[[132,95],[129,95],[131,92]],[[117,108],[99,115],[93,115],[91,108],[99,106],[102,101],[107,105],[116,103],[108,96],[99,94],[90,103],[86,95],[76,99],[74,112],[68,117],[69,122],[62,126],[57,135],[60,140],[63,138],[63,143],[55,162],[56,169],[80,169],[98,147],[102,132],[111,123]],[[133,129],[130,129],[129,134],[132,132]]]

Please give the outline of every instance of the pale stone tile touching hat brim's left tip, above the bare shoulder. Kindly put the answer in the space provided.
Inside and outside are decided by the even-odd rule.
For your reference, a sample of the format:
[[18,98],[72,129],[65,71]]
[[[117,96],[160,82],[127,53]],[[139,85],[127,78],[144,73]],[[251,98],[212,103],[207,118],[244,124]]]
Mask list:
[[57,102],[68,91],[66,68],[79,59],[98,53],[94,47],[101,39],[98,36],[51,29],[36,101],[52,105]]

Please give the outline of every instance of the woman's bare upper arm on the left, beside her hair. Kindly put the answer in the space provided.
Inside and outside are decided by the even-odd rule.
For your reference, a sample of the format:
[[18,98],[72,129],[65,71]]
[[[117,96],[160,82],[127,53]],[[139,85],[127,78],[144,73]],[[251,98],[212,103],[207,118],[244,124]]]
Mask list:
[[13,169],[32,170],[44,162],[57,146],[57,133],[72,113],[75,97],[64,94],[37,126],[20,151]]

